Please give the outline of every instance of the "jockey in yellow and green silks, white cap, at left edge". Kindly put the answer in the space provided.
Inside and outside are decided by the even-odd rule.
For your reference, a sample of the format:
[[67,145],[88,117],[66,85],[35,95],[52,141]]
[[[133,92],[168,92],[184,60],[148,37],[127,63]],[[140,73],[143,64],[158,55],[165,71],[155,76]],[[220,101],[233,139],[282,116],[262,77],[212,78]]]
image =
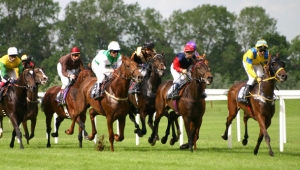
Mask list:
[[[7,55],[4,55],[0,59],[1,67],[1,82],[0,88],[5,85],[8,81],[14,83],[15,79],[22,73],[23,66],[22,62],[19,59],[18,50],[16,47],[9,47],[7,50]],[[15,70],[17,69],[17,72]],[[17,75],[18,74],[18,75]]]

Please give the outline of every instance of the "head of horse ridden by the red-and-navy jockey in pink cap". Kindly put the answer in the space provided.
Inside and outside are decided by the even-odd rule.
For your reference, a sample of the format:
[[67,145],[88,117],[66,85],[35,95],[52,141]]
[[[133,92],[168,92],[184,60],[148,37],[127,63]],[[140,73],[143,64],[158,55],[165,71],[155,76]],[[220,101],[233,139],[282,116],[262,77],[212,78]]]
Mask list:
[[191,65],[189,70],[192,79],[205,82],[208,85],[212,83],[213,76],[210,72],[210,68],[203,61],[195,60],[195,63]]

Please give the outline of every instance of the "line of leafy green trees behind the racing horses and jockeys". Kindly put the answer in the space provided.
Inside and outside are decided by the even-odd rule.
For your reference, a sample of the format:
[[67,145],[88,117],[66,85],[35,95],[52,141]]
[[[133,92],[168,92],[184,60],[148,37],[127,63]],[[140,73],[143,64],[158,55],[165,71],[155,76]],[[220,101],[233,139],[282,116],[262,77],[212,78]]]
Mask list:
[[[235,81],[247,79],[242,56],[263,38],[269,51],[280,53],[286,62],[288,81],[277,84],[279,89],[300,87],[300,35],[287,41],[277,31],[277,20],[260,6],[245,7],[235,14],[224,6],[203,4],[185,12],[175,10],[164,18],[156,9],[142,9],[137,2],[81,0],[66,6],[62,19],[59,4],[53,0],[0,0],[0,6],[0,55],[15,46],[20,55],[32,56],[50,78],[42,91],[60,84],[58,59],[73,46],[80,48],[87,66],[97,51],[107,49],[113,40],[120,43],[126,56],[152,40],[156,51],[164,52],[167,65],[186,42],[194,40],[197,51],[206,53],[214,75],[208,88],[229,88]],[[164,77],[170,78],[170,74]]]

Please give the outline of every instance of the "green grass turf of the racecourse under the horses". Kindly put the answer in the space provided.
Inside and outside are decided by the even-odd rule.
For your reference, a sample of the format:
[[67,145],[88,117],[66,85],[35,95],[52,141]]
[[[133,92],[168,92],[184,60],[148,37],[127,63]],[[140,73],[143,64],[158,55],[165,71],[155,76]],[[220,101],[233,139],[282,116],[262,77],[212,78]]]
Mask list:
[[[83,148],[78,148],[77,127],[73,135],[66,135],[71,121],[65,120],[59,130],[58,144],[51,139],[52,147],[46,148],[46,125],[43,112],[39,113],[36,136],[24,150],[9,148],[12,127],[8,118],[4,119],[4,134],[0,139],[0,168],[1,169],[299,169],[300,168],[300,116],[299,100],[286,100],[287,143],[284,152],[279,151],[279,103],[272,125],[268,129],[271,137],[271,146],[274,157],[268,154],[268,147],[263,140],[258,155],[253,154],[259,129],[256,121],[249,120],[249,141],[243,146],[237,141],[236,121],[233,122],[232,148],[227,147],[227,141],[221,138],[225,129],[227,117],[226,101],[207,102],[203,124],[200,130],[200,139],[197,142],[198,150],[191,153],[189,150],[180,150],[179,143],[170,146],[158,141],[151,146],[147,140],[150,129],[145,137],[140,139],[140,145],[135,144],[133,124],[128,119],[125,128],[125,139],[114,142],[115,152],[109,151],[109,143],[104,151],[96,151],[91,141],[83,141]],[[53,122],[52,122],[53,123]],[[162,137],[166,125],[166,118],[162,118],[159,135]],[[241,119],[241,137],[243,137],[243,122]],[[91,131],[90,122],[86,127]],[[97,116],[98,134],[105,135],[107,141],[106,119]],[[23,129],[22,129],[23,130]],[[185,135],[185,134],[184,134]],[[24,138],[23,138],[24,139]],[[187,141],[184,136],[185,142]]]

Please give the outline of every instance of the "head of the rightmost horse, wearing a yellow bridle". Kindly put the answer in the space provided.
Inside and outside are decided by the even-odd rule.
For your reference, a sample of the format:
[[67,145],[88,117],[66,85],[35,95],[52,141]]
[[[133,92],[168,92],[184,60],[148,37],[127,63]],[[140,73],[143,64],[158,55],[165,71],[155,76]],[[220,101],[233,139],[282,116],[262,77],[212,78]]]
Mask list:
[[269,73],[271,77],[274,77],[277,81],[284,82],[287,80],[287,73],[284,70],[285,63],[279,59],[279,57],[269,56],[266,73]]

